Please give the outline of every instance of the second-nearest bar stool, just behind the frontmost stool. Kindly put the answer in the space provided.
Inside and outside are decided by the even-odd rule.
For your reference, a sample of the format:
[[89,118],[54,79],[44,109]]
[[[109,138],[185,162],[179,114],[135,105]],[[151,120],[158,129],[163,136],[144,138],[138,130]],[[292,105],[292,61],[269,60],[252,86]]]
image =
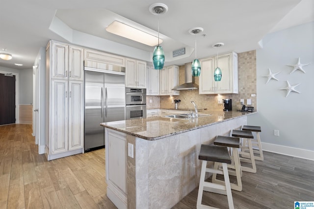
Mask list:
[[[214,141],[214,144],[219,145],[219,146],[230,147],[232,149],[232,155],[231,155],[232,163],[227,164],[227,167],[235,170],[235,171],[228,170],[228,172],[229,172],[229,175],[236,177],[236,184],[230,183],[230,186],[234,190],[242,191],[242,181],[241,181],[242,169],[241,169],[240,157],[238,153],[238,148],[240,148],[240,138],[217,136]],[[214,169],[220,169],[220,166],[221,166],[221,163],[218,163],[218,162],[214,163]],[[213,173],[212,178],[211,178],[212,183],[224,184],[224,181],[218,180],[216,179],[216,177],[217,177],[217,174]]]

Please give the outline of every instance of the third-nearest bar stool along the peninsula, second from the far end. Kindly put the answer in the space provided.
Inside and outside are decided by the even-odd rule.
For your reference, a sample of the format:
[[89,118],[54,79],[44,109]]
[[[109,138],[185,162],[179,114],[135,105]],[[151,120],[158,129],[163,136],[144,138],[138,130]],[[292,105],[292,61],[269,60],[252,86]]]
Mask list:
[[[255,164],[253,146],[252,146],[252,141],[251,141],[251,139],[254,139],[252,132],[251,131],[242,131],[242,130],[232,130],[232,136],[244,138],[244,141],[246,140],[248,143],[247,147],[246,146],[245,147],[240,146],[240,148],[242,150],[241,152],[239,152],[239,154],[242,156],[242,158],[240,158],[240,162],[251,163],[252,167],[243,166],[241,164],[241,169],[243,171],[246,171],[246,172],[256,173],[256,164]],[[245,150],[243,150],[243,149],[248,149],[249,152],[245,152]]]

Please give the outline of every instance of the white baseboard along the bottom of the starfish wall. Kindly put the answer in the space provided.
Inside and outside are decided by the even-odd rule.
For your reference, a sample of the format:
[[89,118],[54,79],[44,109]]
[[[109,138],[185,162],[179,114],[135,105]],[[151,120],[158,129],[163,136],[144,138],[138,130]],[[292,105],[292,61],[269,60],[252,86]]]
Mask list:
[[278,144],[270,144],[262,142],[262,149],[264,151],[274,152],[278,154],[293,156],[297,158],[308,159],[314,161],[314,151],[299,149],[294,147],[282,146]]

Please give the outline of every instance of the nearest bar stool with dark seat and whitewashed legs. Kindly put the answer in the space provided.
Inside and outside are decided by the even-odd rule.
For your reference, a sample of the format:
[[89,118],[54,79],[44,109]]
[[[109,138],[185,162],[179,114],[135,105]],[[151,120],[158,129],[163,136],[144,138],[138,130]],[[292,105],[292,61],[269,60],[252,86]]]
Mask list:
[[[231,186],[230,186],[228,167],[227,167],[227,163],[229,164],[231,163],[231,158],[228,153],[228,148],[224,146],[202,144],[198,159],[202,160],[202,170],[201,170],[200,185],[199,185],[198,195],[197,195],[196,208],[197,209],[213,209],[213,207],[202,205],[203,191],[209,191],[209,192],[227,195],[229,209],[234,209],[234,201],[232,199]],[[206,165],[208,161],[222,163],[222,171],[218,169],[207,168]],[[205,181],[206,172],[224,175],[225,185],[206,182]]]

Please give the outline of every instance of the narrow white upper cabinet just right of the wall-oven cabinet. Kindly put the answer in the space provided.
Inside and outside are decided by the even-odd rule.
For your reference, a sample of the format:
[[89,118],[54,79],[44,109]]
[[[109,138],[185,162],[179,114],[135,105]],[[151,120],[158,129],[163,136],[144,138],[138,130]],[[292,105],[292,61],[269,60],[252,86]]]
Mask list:
[[146,67],[146,73],[147,73],[147,95],[159,95],[159,71],[155,70],[153,66],[147,66]]

